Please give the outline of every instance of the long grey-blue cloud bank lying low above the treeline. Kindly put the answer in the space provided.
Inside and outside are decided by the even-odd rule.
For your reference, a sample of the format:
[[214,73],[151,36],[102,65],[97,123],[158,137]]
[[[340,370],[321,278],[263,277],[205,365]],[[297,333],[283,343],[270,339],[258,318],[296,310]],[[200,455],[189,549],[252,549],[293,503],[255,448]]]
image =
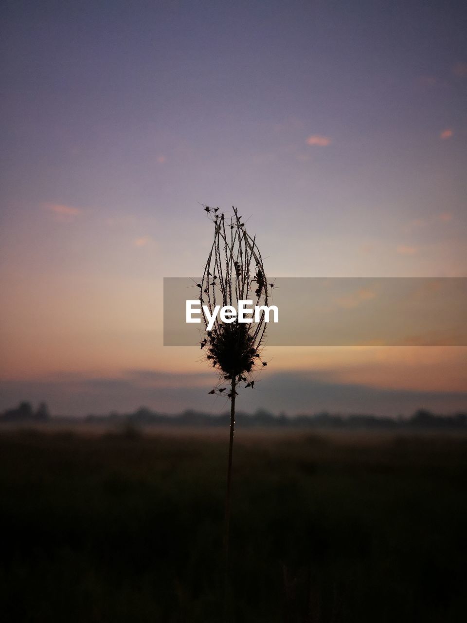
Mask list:
[[[378,366],[371,369],[378,371]],[[261,380],[261,391],[248,393],[245,408],[248,412],[264,408],[289,414],[340,411],[396,416],[401,412],[412,413],[420,407],[446,412],[461,411],[467,405],[465,391],[384,388],[362,381],[339,382],[333,376],[334,373],[312,371],[270,374]],[[215,375],[210,375],[209,379],[204,374],[181,377],[158,371],[144,374],[143,371],[139,376],[132,371],[120,378],[83,378],[82,375],[73,378],[70,375],[66,380],[5,381],[0,409],[29,399],[34,403],[47,401],[53,414],[130,412],[141,405],[169,413],[187,408],[213,413],[228,411],[227,399],[212,399],[207,395],[207,388],[212,386],[210,380],[214,383]],[[384,375],[378,380],[384,383]]]

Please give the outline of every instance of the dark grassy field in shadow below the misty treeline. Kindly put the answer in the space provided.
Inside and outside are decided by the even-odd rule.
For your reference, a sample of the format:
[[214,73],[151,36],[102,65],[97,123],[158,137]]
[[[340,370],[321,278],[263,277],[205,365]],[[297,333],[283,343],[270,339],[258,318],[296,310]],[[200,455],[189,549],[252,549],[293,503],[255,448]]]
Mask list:
[[[4,621],[222,620],[227,435],[0,434]],[[230,619],[457,622],[467,442],[236,435]]]

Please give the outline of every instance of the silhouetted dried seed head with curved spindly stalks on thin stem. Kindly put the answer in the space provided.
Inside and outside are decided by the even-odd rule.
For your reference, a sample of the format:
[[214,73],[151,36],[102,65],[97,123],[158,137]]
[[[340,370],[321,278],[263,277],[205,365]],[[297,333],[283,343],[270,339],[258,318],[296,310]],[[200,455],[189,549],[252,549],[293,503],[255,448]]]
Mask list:
[[[270,288],[263,259],[255,237],[245,229],[242,217],[232,206],[233,215],[226,217],[219,207],[204,206],[214,223],[214,241],[197,287],[200,301],[212,315],[217,305],[238,309],[238,301],[251,300],[254,306],[268,305]],[[204,315],[205,334],[200,343],[205,358],[219,374],[219,383],[210,394],[225,395],[230,399],[229,464],[227,468],[227,492],[225,497],[224,551],[227,569],[229,557],[230,491],[232,483],[232,454],[235,429],[235,396],[240,384],[254,388],[255,372],[267,365],[262,361],[261,351],[266,336],[265,315],[262,312],[252,323],[240,323],[237,319],[224,323],[216,317],[212,330],[208,331],[208,318]],[[224,385],[223,387],[221,387]]]

